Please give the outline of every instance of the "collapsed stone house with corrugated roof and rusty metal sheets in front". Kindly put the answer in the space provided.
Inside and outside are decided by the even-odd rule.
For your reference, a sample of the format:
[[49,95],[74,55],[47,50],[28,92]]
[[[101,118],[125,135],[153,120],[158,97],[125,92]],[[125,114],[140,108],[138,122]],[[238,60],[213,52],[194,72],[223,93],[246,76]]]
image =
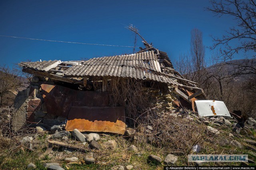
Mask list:
[[174,70],[165,52],[150,50],[87,61],[20,63],[34,77],[17,96],[13,128],[64,124],[67,131],[124,134],[126,124],[144,111],[161,114],[181,105],[194,110],[195,100],[206,99],[196,82]]

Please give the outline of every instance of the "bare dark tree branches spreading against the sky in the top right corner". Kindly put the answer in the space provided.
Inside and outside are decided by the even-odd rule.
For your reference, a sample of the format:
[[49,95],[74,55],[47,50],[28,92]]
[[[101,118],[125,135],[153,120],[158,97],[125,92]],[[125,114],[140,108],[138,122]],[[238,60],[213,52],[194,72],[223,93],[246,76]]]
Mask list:
[[[254,0],[210,0],[211,7],[208,11],[216,16],[229,16],[237,21],[237,25],[230,27],[227,35],[213,37],[224,58],[232,59],[235,53],[242,51],[256,52],[256,4]],[[252,57],[256,57],[254,54]]]

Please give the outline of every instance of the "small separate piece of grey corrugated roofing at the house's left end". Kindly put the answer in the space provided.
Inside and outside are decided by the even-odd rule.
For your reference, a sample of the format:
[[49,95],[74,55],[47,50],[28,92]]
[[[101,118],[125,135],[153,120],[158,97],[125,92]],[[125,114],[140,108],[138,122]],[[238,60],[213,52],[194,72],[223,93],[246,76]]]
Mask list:
[[[36,61],[36,62],[21,62],[19,66],[26,67],[26,68],[34,68],[36,70],[45,70],[48,66],[54,65],[55,63],[60,63],[58,60],[54,61]],[[50,69],[49,69],[50,70]]]

